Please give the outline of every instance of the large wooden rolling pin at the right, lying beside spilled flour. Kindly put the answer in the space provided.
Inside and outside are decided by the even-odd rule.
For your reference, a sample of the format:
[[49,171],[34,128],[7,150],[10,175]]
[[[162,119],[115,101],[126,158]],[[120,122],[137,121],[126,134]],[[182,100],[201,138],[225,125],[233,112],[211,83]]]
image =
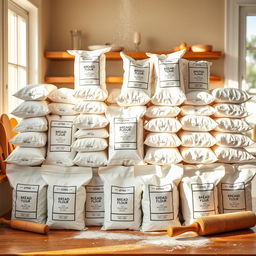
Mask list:
[[251,228],[255,225],[256,215],[251,211],[226,213],[195,219],[195,222],[188,226],[171,226],[167,229],[167,234],[172,237],[192,231],[204,236]]

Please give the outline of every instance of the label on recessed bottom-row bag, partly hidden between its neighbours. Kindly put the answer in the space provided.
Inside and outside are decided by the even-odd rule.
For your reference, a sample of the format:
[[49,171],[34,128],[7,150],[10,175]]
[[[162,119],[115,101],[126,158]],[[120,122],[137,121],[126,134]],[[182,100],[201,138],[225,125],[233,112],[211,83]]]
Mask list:
[[86,186],[86,208],[87,219],[104,218],[104,186]]

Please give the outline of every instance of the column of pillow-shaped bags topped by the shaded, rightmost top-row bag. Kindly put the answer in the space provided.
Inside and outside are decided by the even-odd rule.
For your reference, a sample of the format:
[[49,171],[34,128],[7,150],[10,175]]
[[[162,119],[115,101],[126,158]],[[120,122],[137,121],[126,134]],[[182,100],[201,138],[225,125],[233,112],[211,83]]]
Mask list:
[[189,164],[217,161],[211,149],[216,139],[210,131],[217,127],[217,123],[210,117],[215,113],[214,107],[209,105],[214,101],[208,91],[210,64],[182,59],[187,99],[181,107],[180,153],[183,161]]

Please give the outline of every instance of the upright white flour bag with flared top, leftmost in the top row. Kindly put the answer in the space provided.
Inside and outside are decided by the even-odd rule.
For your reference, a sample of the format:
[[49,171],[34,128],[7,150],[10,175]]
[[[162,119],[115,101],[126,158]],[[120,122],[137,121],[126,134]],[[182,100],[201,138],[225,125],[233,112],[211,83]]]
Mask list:
[[68,51],[75,56],[75,97],[95,101],[104,101],[107,98],[104,53],[110,49],[108,47],[95,51]]

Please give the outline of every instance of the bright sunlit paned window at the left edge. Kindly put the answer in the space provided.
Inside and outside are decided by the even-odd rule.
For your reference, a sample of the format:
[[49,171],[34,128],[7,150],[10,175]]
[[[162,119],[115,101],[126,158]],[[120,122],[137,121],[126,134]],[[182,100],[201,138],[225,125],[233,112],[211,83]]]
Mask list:
[[28,81],[28,12],[8,2],[8,111],[20,103],[12,96]]

